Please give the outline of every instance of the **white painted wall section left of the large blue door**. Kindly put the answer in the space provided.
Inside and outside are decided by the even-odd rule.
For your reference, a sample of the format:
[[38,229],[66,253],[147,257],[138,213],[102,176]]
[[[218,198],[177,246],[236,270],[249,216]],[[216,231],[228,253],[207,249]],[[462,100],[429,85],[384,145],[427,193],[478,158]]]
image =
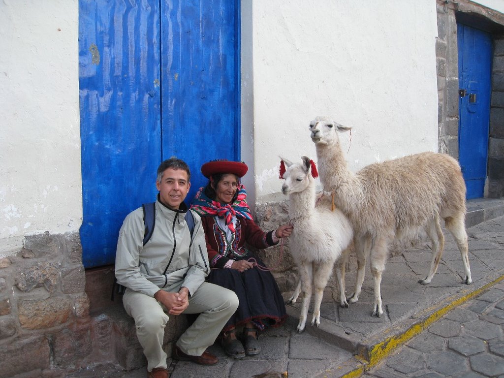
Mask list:
[[0,2],[0,256],[81,225],[78,5]]

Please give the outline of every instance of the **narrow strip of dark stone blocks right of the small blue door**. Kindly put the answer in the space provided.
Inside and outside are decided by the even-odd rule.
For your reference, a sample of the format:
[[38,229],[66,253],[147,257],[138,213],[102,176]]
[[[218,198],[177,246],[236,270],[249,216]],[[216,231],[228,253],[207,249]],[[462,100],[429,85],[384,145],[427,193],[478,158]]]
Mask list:
[[504,196],[504,37],[494,39],[490,140],[488,144],[488,197]]

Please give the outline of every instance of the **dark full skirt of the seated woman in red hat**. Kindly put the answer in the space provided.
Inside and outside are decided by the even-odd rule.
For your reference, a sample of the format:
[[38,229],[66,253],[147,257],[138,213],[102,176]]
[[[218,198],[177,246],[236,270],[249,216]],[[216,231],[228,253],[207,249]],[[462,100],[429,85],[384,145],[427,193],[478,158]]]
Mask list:
[[[264,263],[254,257],[258,264]],[[256,328],[278,327],[287,319],[285,305],[278,285],[269,271],[258,267],[239,272],[235,269],[212,269],[207,281],[232,290],[240,301],[236,312],[223,331],[252,322]]]

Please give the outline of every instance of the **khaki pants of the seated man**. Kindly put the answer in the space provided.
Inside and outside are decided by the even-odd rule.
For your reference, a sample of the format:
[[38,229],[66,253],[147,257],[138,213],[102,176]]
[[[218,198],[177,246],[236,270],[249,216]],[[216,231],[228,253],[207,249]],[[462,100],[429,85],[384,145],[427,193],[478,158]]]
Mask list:
[[[180,285],[166,288],[178,292]],[[126,312],[135,319],[137,337],[147,357],[147,370],[155,367],[166,368],[167,355],[163,350],[164,327],[168,314],[156,299],[133,290],[126,290],[122,303]],[[238,297],[221,286],[204,282],[189,299],[183,313],[200,313],[196,321],[177,341],[177,346],[185,354],[201,356],[212,345],[220,331],[236,311]]]

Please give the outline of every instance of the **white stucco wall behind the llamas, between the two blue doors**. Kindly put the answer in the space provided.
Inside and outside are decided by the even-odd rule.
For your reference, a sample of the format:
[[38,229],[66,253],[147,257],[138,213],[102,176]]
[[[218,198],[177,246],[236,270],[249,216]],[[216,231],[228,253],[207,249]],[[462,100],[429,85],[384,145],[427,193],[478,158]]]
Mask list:
[[253,15],[258,202],[280,191],[278,155],[316,160],[317,115],[354,128],[351,170],[437,151],[432,2],[255,0]]

